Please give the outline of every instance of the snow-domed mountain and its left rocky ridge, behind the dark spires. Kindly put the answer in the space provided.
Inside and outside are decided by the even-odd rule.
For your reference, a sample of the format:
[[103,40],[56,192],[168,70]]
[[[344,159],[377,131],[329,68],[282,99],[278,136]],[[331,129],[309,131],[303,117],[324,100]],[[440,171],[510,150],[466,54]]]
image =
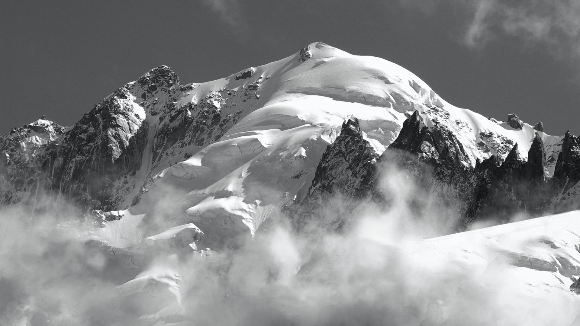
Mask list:
[[[546,156],[542,168],[547,176],[556,170],[564,137],[548,136],[516,115],[500,122],[456,108],[394,63],[313,43],[280,61],[201,84],[181,85],[161,66],[70,128],[41,119],[14,129],[0,148],[2,200],[131,208],[134,213],[123,213],[129,218],[142,215],[142,198],[147,203],[141,206],[159,202],[165,197],[154,189],[170,187],[180,204],[168,215],[202,224],[220,220],[254,233],[271,212],[302,202],[310,186],[318,187],[311,185],[314,172],[345,119],[356,117],[362,138],[380,155],[415,111],[420,127],[441,131],[441,142],[456,147],[454,169],[474,168],[492,155],[499,164],[516,145],[518,160],[525,161],[537,133]],[[38,127],[44,125],[51,127]],[[415,142],[421,148],[407,150],[430,155],[423,139]],[[575,166],[577,155],[566,157]],[[565,199],[556,201],[574,201],[574,166],[565,168],[573,178],[558,175],[566,189]]]

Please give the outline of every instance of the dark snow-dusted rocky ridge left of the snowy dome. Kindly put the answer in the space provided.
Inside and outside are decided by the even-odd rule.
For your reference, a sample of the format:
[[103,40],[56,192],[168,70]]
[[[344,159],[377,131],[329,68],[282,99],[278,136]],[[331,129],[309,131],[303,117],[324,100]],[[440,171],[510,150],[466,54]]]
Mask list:
[[[121,194],[135,187],[131,178],[143,163],[150,132],[147,114],[155,111],[150,109],[160,97],[171,98],[176,85],[179,78],[171,68],[157,67],[103,99],[71,128],[41,119],[5,136],[0,150],[9,160],[0,171],[3,202],[67,205],[59,211],[117,208]],[[29,195],[17,196],[17,191]]]

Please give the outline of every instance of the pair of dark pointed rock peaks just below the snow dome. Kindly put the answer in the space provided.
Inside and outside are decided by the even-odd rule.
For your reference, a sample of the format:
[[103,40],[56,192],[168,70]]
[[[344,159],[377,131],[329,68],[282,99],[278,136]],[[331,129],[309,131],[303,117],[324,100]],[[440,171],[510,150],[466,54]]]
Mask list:
[[[330,215],[335,219],[327,218],[325,226],[335,230],[345,226],[346,216],[361,200],[372,200],[385,209],[401,205],[396,201],[403,200],[418,216],[434,208],[458,215],[466,211],[463,203],[472,193],[467,161],[455,135],[443,125],[427,128],[418,111],[405,120],[397,139],[380,157],[363,139],[358,121],[347,119],[340,136],[325,151],[308,194],[295,214],[301,222],[298,224],[329,215],[328,204],[322,214],[316,208],[332,200],[338,200],[334,208],[342,211],[331,209]],[[383,180],[393,175],[400,177],[401,173],[415,186],[410,198],[400,198],[400,189],[386,189],[393,183],[383,184]],[[432,200],[433,194],[437,200]]]

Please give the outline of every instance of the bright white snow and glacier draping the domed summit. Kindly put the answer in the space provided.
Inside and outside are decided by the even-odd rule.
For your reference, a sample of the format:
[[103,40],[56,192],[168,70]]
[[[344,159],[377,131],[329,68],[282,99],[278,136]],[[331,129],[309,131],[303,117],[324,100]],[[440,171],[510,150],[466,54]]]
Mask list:
[[[146,184],[147,192],[138,205],[123,212],[124,219],[107,223],[95,236],[119,248],[139,245],[144,237],[162,231],[147,230],[143,218],[161,219],[168,228],[195,223],[218,238],[225,236],[224,229],[230,236],[253,235],[282,205],[302,200],[322,153],[349,115],[360,120],[366,139],[379,154],[398,135],[405,114],[419,110],[428,126],[444,124],[454,133],[469,156],[466,165],[492,154],[505,158],[515,143],[520,158],[527,157],[536,132],[528,124],[516,130],[452,106],[416,75],[384,59],[351,55],[320,42],[305,50],[310,58],[302,60],[296,53],[252,67],[249,78],[235,80],[238,73],[190,84],[193,89],[177,98],[176,107],[202,99],[216,102],[213,98],[218,97],[212,94],[224,89],[259,85],[260,90],[259,96],[237,104],[243,118],[218,141],[180,149],[179,153],[193,152],[187,160],[172,157],[162,161],[165,166],[153,165],[151,155],[144,155],[142,169],[151,170],[137,176],[143,180],[154,176]],[[228,110],[226,104],[211,105]],[[157,126],[147,111],[136,111],[140,117],[147,115],[152,128]],[[552,172],[562,137],[539,135]],[[150,210],[160,205],[164,209]]]

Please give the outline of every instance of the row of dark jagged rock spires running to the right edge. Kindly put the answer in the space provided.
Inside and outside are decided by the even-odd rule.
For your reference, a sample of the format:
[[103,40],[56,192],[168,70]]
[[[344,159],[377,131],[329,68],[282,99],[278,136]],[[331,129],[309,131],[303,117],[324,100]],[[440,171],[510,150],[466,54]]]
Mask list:
[[[325,189],[325,193],[340,194],[349,200],[369,198],[388,208],[395,204],[397,196],[393,196],[393,191],[397,190],[386,189],[382,180],[390,174],[403,173],[415,186],[415,195],[409,201],[411,210],[417,215],[425,215],[433,208],[445,211],[458,221],[457,230],[477,219],[505,223],[521,213],[533,217],[557,211],[560,206],[554,196],[580,180],[575,165],[580,153],[578,139],[570,134],[564,137],[553,178],[549,176],[546,148],[538,133],[531,140],[527,160],[520,158],[516,143],[505,160],[491,155],[472,167],[454,133],[440,124],[427,127],[418,111],[405,120],[397,139],[378,159],[356,166],[356,175],[364,178],[351,178],[350,183],[335,181],[332,176],[345,173],[342,165],[329,164],[329,158],[347,160],[335,148],[348,143],[341,135],[328,147],[310,187],[311,198],[320,197],[317,189]],[[349,158],[359,160],[357,155]]]

